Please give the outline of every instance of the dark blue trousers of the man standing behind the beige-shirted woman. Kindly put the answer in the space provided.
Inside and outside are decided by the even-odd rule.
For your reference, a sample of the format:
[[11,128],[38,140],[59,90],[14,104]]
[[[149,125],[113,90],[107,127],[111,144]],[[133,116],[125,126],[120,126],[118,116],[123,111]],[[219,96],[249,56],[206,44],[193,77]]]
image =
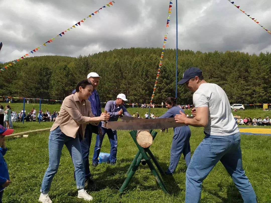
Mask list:
[[[92,128],[91,128],[91,124],[88,124],[86,125],[84,140],[79,138],[81,150],[82,150],[82,158],[83,158],[83,164],[85,168],[86,179],[91,177],[91,173],[89,171],[89,148],[91,145],[91,138],[92,138]],[[74,172],[74,179],[76,179],[75,172]]]

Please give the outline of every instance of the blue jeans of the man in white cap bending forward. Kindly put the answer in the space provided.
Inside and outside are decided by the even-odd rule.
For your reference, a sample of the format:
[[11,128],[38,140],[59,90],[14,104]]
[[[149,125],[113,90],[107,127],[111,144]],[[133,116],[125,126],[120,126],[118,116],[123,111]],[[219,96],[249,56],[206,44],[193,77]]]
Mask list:
[[101,138],[99,137],[99,135],[96,136],[96,143],[95,143],[92,163],[99,162],[98,157],[100,155],[102,140],[104,139],[105,133],[107,133],[107,136],[109,138],[109,142],[111,145],[109,161],[110,161],[110,163],[116,163],[116,161],[117,161],[117,144],[118,144],[117,130],[112,131],[111,129],[107,129],[104,127],[101,127],[101,128],[102,128],[102,136],[101,136]]

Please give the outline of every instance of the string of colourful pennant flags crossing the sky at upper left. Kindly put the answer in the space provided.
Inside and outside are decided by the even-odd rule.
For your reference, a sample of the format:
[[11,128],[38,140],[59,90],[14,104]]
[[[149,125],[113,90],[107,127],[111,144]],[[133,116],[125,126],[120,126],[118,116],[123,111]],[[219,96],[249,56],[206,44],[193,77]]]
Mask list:
[[94,11],[92,14],[88,15],[87,17],[83,18],[82,20],[80,20],[78,23],[72,25],[71,27],[69,27],[67,30],[64,30],[63,32],[61,32],[60,34],[56,35],[55,37],[51,38],[50,40],[48,40],[47,42],[44,42],[43,44],[41,44],[40,46],[38,46],[37,48],[33,49],[32,51],[28,52],[27,54],[23,55],[22,57],[12,61],[12,63],[8,64],[7,66],[3,67],[0,69],[0,72],[1,70],[6,70],[8,67],[20,62],[21,60],[23,60],[24,58],[27,58],[28,56],[31,56],[31,54],[34,54],[34,52],[37,52],[38,50],[41,49],[41,47],[46,47],[46,45],[48,43],[51,43],[53,42],[53,40],[56,40],[57,37],[62,37],[62,35],[65,35],[65,33],[67,31],[71,31],[72,29],[76,28],[77,26],[80,26],[82,22],[85,22],[87,18],[91,18],[92,15],[95,15],[95,14],[98,14],[100,12],[100,10],[102,8],[107,8],[107,7],[110,7],[110,5],[112,6],[113,3],[115,3],[115,0],[112,0],[110,2],[108,2],[108,4],[105,4],[104,6],[102,6],[101,8],[99,8],[97,11]]

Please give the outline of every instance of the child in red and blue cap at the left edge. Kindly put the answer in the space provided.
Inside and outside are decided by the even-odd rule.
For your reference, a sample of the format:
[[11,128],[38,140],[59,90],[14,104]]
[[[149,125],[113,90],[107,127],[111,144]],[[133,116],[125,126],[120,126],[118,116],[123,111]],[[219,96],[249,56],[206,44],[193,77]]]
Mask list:
[[4,159],[4,155],[8,150],[5,145],[5,136],[12,133],[13,129],[7,129],[0,125],[0,203],[2,203],[4,189],[11,183],[8,175],[8,166]]

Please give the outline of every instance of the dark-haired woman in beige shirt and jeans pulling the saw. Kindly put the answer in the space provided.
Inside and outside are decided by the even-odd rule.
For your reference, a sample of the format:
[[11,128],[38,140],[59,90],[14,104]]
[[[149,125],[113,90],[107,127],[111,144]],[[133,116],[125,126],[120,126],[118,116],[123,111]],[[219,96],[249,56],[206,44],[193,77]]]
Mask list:
[[61,151],[64,145],[68,148],[75,167],[78,198],[92,200],[85,191],[85,172],[82,160],[82,151],[79,136],[84,139],[86,124],[98,125],[100,121],[107,121],[109,115],[102,113],[94,117],[88,97],[93,90],[88,80],[82,80],[76,85],[76,92],[67,96],[60,108],[59,115],[50,130],[49,135],[49,166],[44,174],[40,189],[40,202],[49,202],[48,192],[60,162]]

